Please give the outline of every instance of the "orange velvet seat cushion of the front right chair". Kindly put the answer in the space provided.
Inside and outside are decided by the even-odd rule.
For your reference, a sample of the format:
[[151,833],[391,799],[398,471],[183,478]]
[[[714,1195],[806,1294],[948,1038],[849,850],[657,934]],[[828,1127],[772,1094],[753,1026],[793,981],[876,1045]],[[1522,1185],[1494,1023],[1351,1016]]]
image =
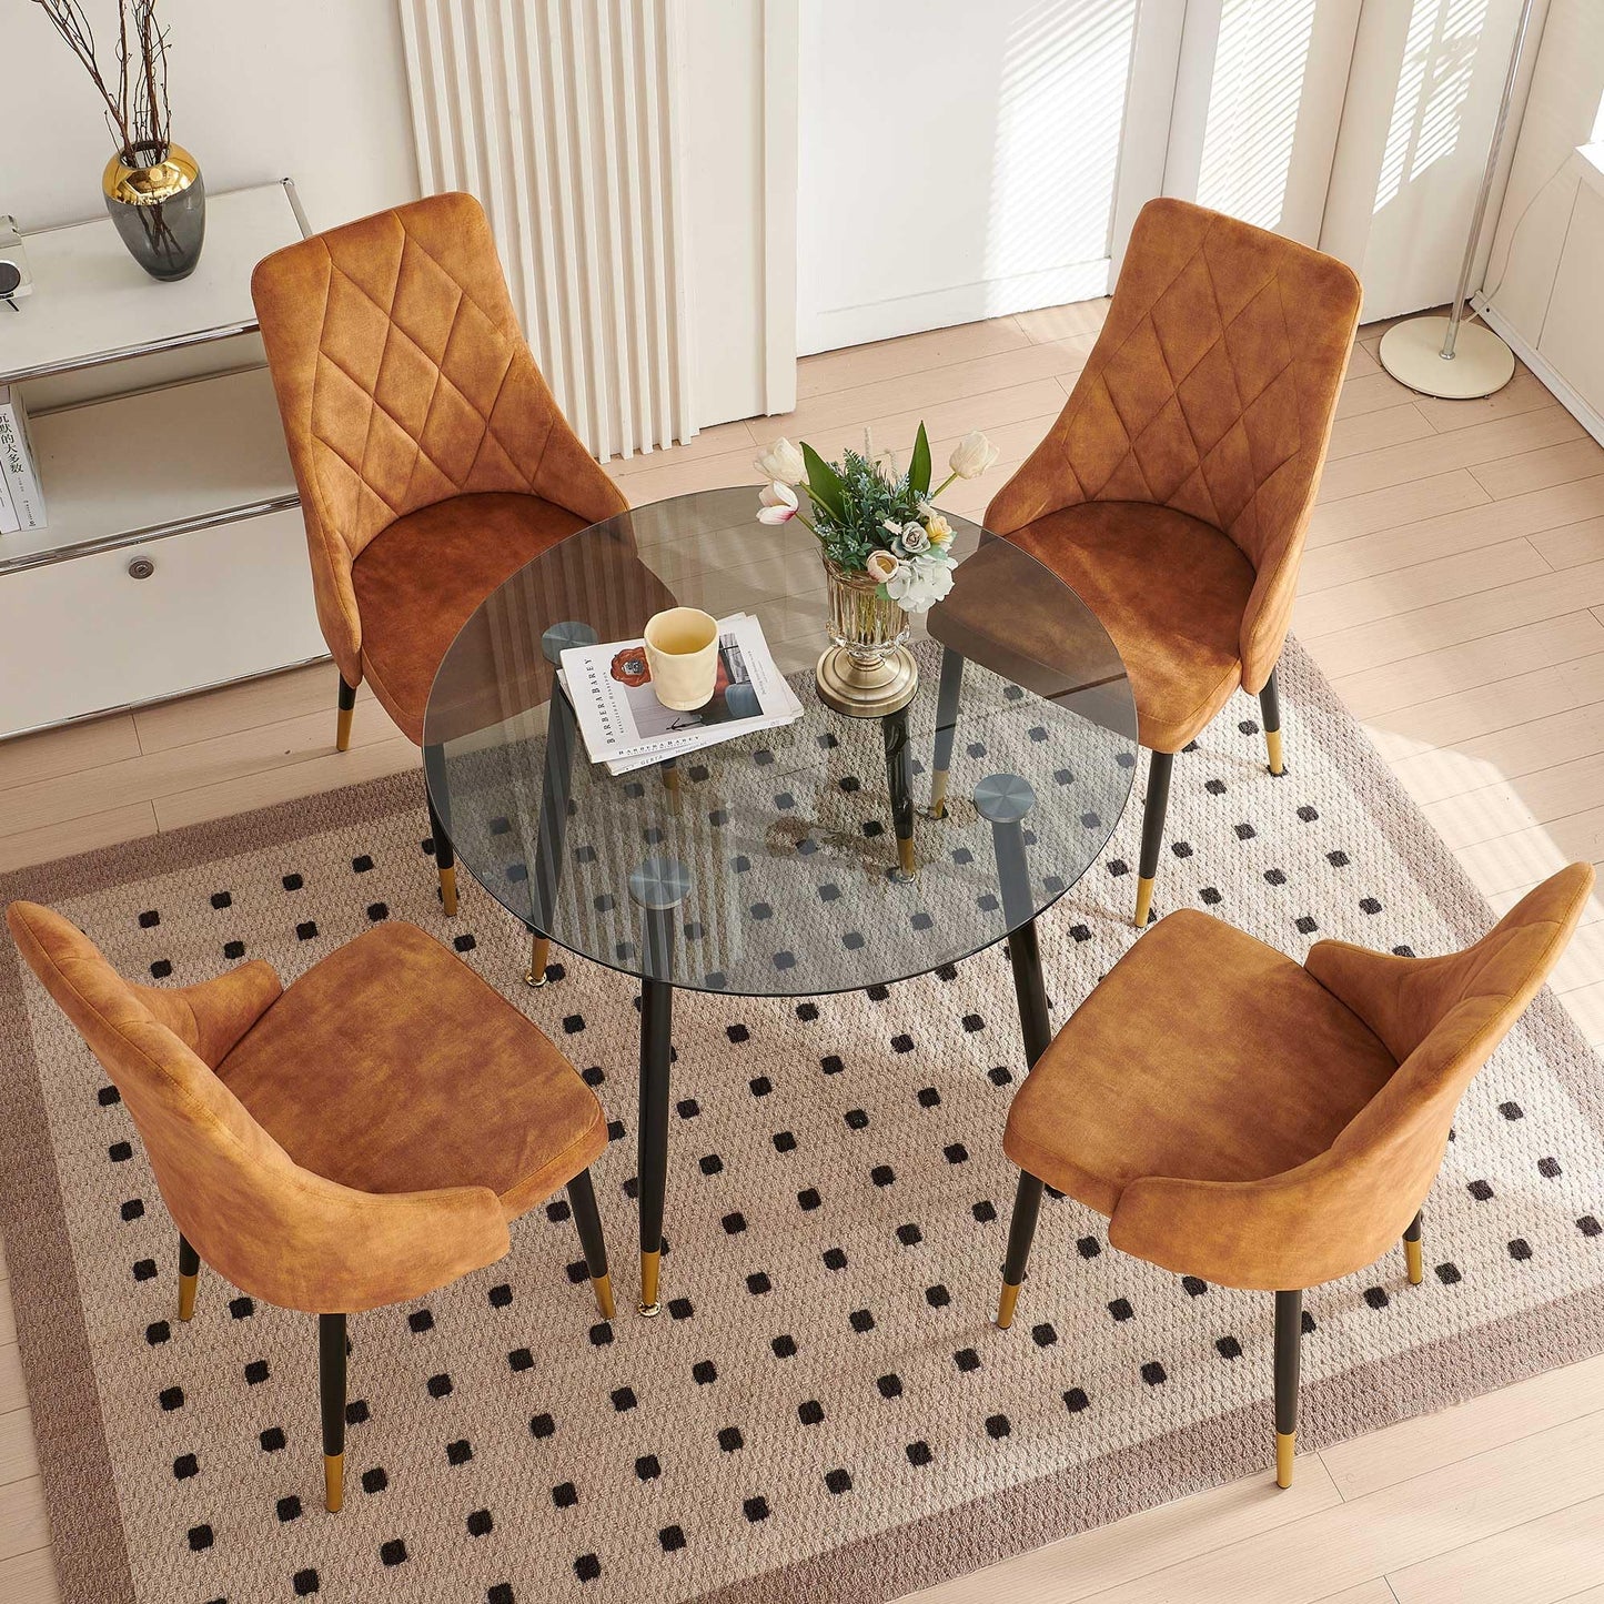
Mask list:
[[1152,926],[1059,1031],[1003,1147],[1113,1214],[1142,1176],[1262,1181],[1306,1163],[1395,1067],[1301,964],[1185,909]]

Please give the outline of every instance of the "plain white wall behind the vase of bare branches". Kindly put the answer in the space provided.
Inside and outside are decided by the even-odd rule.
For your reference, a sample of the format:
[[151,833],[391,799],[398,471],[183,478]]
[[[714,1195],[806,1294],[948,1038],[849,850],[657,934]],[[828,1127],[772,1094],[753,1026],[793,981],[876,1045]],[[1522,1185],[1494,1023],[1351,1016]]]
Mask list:
[[[115,16],[112,0],[88,10],[91,21]],[[207,189],[289,175],[313,228],[415,197],[395,0],[164,0],[160,10],[173,136]],[[8,6],[3,27],[0,212],[24,229],[103,215],[112,143],[88,75],[38,6]]]

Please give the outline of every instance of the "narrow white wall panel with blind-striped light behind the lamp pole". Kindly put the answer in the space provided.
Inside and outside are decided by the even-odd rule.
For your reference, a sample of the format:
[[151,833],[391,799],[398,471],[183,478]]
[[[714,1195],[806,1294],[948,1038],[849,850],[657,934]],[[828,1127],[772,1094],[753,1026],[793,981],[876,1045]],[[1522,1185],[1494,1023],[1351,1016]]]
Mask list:
[[1365,0],[1320,247],[1359,274],[1367,321],[1453,295],[1519,10]]

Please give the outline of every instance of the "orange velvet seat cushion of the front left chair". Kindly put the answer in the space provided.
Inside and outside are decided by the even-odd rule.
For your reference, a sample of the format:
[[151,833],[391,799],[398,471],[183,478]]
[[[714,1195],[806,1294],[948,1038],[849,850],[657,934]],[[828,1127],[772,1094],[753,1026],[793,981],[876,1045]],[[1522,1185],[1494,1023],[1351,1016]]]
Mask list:
[[606,1147],[573,1065],[411,924],[330,953],[217,1073],[290,1158],[359,1192],[489,1187],[515,1219]]

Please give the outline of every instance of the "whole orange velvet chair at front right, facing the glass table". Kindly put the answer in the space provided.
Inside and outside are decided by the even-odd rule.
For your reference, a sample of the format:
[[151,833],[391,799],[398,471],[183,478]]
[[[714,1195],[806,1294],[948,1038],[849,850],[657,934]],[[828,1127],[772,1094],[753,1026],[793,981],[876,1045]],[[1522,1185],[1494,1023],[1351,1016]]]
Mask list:
[[1593,890],[1574,863],[1444,958],[1318,942],[1298,964],[1208,914],[1161,919],[1020,1086],[998,1325],[1014,1318],[1043,1184],[1108,1216],[1115,1248],[1275,1293],[1275,1476],[1291,1485],[1302,1290],[1404,1237],[1460,1096],[1566,950]]

